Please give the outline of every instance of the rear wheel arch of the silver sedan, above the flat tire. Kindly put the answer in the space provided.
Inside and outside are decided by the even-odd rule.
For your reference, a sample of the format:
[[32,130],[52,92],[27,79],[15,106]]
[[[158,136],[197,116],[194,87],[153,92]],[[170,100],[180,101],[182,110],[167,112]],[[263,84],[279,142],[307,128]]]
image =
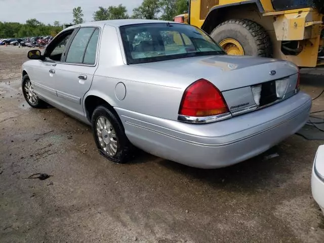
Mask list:
[[83,101],[83,107],[86,113],[86,117],[90,121],[90,123],[93,111],[99,105],[106,106],[111,112],[115,113],[118,116],[117,112],[113,108],[116,105],[113,99],[99,92],[91,92],[86,94]]

